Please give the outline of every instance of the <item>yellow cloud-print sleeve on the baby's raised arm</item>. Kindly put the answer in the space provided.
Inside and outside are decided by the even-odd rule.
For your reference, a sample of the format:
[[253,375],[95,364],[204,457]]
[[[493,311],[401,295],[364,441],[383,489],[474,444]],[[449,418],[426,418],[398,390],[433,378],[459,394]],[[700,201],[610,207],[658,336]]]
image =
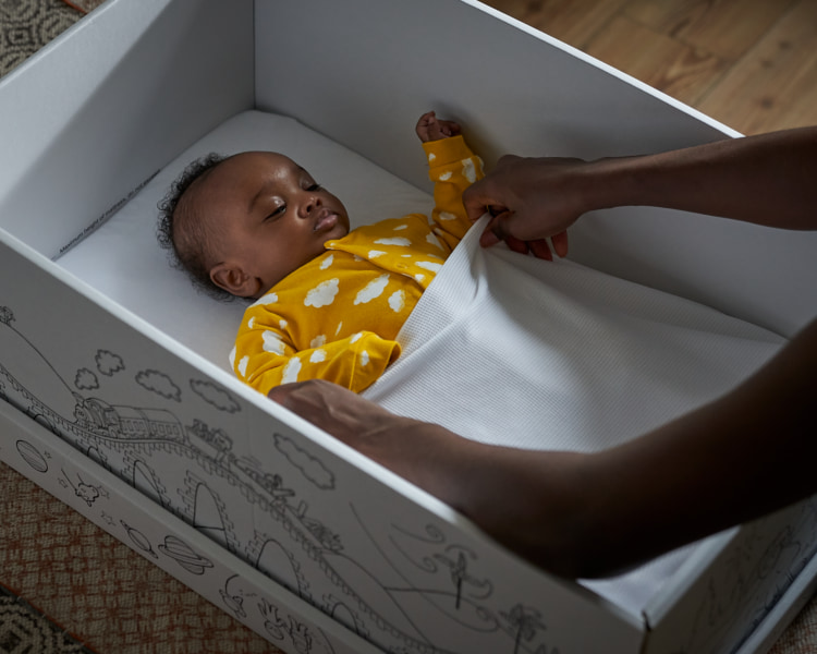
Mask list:
[[451,136],[423,144],[428,158],[428,177],[434,182],[435,231],[453,249],[472,226],[462,203],[462,194],[483,179],[483,160],[462,136]]

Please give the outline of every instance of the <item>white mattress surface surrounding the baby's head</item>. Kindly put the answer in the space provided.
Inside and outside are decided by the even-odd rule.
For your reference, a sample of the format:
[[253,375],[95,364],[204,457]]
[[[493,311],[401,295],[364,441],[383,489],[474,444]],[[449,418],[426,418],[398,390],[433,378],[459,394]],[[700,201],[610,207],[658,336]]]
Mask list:
[[[406,125],[413,134],[413,125]],[[352,226],[432,206],[430,194],[283,116],[246,111],[229,119],[168,164],[138,194],[57,263],[212,363],[232,372],[228,355],[247,303],[220,302],[170,269],[156,239],[157,204],[193,159],[216,152],[276,150],[340,196]],[[417,145],[417,166],[425,166]]]

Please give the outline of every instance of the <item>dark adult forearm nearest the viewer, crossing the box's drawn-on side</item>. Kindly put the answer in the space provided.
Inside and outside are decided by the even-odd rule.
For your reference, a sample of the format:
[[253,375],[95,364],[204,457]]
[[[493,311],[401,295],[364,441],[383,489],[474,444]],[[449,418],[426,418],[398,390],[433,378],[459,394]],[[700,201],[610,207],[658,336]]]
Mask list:
[[817,493],[816,370],[817,322],[732,392],[617,448],[467,446],[446,499],[547,570],[620,572]]

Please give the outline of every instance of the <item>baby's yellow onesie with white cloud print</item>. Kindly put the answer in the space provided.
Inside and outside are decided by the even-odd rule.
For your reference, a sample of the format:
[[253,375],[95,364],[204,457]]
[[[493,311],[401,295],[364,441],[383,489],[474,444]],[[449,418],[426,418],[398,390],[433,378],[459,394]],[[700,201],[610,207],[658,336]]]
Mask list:
[[462,136],[423,144],[435,182],[432,221],[410,214],[328,241],[244,314],[230,361],[263,393],[327,379],[359,392],[400,355],[394,340],[471,227],[462,193],[483,162]]

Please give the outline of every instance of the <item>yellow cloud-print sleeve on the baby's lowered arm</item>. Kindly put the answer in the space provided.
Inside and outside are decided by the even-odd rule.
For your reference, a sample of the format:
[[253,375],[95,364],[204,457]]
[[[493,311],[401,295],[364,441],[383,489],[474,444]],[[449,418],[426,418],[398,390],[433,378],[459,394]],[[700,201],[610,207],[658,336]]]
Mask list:
[[275,386],[306,379],[326,379],[361,392],[400,355],[395,341],[371,331],[316,346],[296,350],[278,329],[252,328],[239,332],[231,361],[239,379],[264,395]]

